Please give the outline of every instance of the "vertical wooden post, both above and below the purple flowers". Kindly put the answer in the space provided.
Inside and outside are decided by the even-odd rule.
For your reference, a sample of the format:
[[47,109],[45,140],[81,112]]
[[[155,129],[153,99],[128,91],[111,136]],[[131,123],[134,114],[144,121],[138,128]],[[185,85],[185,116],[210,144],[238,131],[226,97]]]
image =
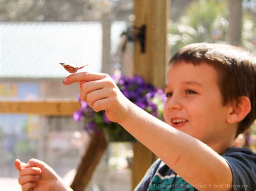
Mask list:
[[[164,87],[167,63],[168,0],[134,0],[135,26],[146,25],[146,49],[134,43],[134,72],[156,87]],[[144,145],[133,144],[132,188],[135,188],[154,160],[154,155]]]

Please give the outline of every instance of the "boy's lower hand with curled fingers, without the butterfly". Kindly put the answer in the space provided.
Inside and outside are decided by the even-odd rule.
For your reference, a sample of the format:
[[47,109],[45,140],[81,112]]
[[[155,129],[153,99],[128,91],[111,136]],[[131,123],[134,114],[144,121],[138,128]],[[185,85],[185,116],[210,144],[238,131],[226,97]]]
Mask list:
[[22,186],[22,190],[71,190],[43,161],[30,159],[28,164],[25,164],[16,159],[15,167],[19,171],[18,182]]

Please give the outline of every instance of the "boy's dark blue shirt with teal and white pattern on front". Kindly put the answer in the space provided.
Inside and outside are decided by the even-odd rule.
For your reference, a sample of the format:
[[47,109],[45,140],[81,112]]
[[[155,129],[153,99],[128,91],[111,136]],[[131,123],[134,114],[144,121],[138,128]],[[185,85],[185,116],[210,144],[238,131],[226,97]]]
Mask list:
[[[230,165],[233,175],[233,190],[255,190],[256,154],[248,148],[231,147],[221,155]],[[230,188],[229,185],[200,185],[206,187]],[[158,159],[153,163],[135,190],[197,190]]]

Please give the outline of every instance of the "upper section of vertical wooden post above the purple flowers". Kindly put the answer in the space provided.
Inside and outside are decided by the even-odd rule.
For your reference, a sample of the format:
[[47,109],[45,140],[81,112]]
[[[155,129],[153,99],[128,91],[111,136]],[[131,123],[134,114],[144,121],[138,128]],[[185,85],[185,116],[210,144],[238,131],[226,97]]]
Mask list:
[[135,26],[146,24],[146,50],[134,43],[134,74],[154,86],[164,87],[167,64],[167,0],[135,0]]

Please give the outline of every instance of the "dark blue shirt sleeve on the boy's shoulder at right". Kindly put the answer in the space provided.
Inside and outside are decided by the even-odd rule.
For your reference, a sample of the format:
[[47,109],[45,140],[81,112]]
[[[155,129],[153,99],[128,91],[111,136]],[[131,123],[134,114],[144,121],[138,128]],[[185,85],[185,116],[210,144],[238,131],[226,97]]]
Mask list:
[[233,190],[255,190],[256,154],[248,148],[229,148],[222,157],[233,176]]

